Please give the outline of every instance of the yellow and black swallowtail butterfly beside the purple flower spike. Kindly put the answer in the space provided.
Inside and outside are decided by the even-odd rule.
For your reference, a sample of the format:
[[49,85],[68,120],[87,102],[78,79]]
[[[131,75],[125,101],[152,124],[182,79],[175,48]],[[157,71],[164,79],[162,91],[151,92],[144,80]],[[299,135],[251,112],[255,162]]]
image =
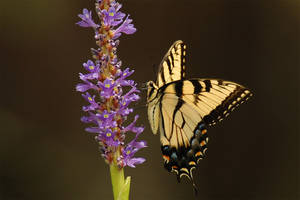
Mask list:
[[207,151],[207,128],[227,117],[252,93],[242,85],[221,79],[185,79],[186,45],[176,41],[159,65],[157,80],[147,82],[148,119],[160,132],[164,167],[187,176]]

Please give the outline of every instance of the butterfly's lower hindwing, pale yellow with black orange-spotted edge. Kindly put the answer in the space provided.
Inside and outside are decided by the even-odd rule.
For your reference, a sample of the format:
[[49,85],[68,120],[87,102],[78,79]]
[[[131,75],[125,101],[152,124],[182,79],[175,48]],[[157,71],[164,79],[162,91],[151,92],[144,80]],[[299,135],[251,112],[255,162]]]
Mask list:
[[160,105],[160,132],[164,166],[192,179],[192,170],[205,155],[208,142],[206,127],[192,104],[174,94],[164,94]]

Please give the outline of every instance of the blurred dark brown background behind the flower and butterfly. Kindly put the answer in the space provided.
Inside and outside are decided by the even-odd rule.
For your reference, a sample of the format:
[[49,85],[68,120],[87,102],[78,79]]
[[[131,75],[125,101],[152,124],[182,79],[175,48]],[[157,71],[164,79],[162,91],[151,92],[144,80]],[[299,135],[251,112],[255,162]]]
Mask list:
[[[208,157],[194,176],[202,200],[299,199],[300,2],[296,0],[126,0],[137,32],[122,36],[123,67],[138,83],[178,39],[187,76],[231,80],[254,96],[209,130]],[[0,2],[0,199],[112,199],[109,168],[75,91],[91,59],[93,31],[75,25],[93,0]],[[137,106],[145,105],[143,99]],[[136,109],[148,148],[132,176],[130,199],[195,199],[187,179],[163,168],[159,136]],[[297,196],[298,195],[298,196]]]

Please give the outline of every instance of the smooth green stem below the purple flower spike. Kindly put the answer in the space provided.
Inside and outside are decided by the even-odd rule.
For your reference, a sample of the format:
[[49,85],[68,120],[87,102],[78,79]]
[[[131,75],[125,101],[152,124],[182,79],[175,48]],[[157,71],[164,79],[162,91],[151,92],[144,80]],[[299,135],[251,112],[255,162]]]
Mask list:
[[115,164],[110,165],[110,176],[113,187],[114,200],[128,200],[130,190],[130,176],[124,180],[124,170]]

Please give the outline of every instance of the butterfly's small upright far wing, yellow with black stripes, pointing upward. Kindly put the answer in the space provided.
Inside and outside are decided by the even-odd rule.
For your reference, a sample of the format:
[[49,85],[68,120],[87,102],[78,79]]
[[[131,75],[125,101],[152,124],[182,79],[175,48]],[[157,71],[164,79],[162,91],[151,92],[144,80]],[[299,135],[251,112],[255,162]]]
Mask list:
[[174,42],[159,65],[156,85],[161,87],[185,77],[186,45]]

